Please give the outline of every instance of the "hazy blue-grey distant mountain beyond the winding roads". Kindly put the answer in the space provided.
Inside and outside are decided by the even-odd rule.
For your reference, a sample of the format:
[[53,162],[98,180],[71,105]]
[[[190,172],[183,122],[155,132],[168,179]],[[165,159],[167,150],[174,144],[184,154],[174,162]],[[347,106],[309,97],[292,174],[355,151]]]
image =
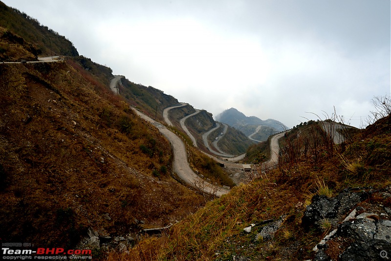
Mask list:
[[[219,122],[227,123],[228,125],[240,130],[247,136],[265,141],[272,134],[288,129],[282,122],[275,119],[261,120],[255,116],[247,117],[235,108],[223,111],[216,116]],[[258,128],[258,129],[257,129]],[[263,133],[263,134],[262,134]]]

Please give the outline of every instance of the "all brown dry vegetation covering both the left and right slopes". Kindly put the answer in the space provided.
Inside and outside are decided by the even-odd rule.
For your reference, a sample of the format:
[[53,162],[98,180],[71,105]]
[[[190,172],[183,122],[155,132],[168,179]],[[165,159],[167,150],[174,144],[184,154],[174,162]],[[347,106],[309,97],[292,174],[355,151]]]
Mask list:
[[[9,11],[2,3],[0,7]],[[2,36],[5,32],[1,29]],[[28,58],[27,45],[14,34],[7,37],[1,44],[7,45],[9,58]],[[298,126],[282,141],[285,149],[277,169],[200,208],[205,199],[169,174],[169,143],[111,94],[108,75],[108,68],[84,57],[0,64],[2,240],[72,247],[88,227],[115,236],[139,231],[135,219],[145,220],[148,227],[183,219],[167,234],[142,236],[129,254],[111,252],[108,259],[204,261],[243,255],[254,260],[307,260],[330,229],[327,219],[321,230],[308,231],[301,225],[314,194],[390,185],[386,97],[375,99],[381,112],[373,113],[373,124],[358,134],[344,130],[348,139],[340,145],[316,122]],[[155,104],[145,91],[139,95],[142,103]],[[217,172],[213,162],[194,150],[190,155],[195,168]],[[391,207],[390,202],[386,206]],[[251,223],[281,216],[282,226],[273,240],[255,241],[257,230],[242,232]]]

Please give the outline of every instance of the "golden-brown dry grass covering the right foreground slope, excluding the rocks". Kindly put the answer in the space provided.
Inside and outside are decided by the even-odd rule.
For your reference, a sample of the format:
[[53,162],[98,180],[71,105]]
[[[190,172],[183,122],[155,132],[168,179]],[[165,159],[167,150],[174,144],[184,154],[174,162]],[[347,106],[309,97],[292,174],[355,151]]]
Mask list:
[[[352,136],[344,148],[334,145],[333,151],[320,142],[316,161],[310,148],[305,157],[302,144],[292,166],[289,160],[283,161],[267,178],[262,175],[209,202],[174,225],[169,234],[146,238],[130,255],[111,255],[109,260],[233,260],[240,255],[254,260],[311,259],[312,248],[330,231],[331,224],[325,218],[320,229],[305,230],[301,218],[306,204],[314,194],[332,196],[348,187],[390,185],[390,125],[390,116],[380,119]],[[297,142],[291,138],[291,143]],[[284,157],[289,158],[286,153]],[[242,232],[251,223],[282,215],[285,218],[273,240],[255,241],[258,231]]]

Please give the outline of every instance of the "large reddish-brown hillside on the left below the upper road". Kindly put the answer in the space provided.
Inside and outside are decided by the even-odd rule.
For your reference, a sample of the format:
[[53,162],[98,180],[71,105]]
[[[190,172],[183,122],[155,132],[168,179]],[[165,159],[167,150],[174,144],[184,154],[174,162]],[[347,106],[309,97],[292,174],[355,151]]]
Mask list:
[[2,240],[75,247],[88,228],[135,235],[204,201],[170,176],[167,140],[111,94],[109,68],[76,57],[0,69]]

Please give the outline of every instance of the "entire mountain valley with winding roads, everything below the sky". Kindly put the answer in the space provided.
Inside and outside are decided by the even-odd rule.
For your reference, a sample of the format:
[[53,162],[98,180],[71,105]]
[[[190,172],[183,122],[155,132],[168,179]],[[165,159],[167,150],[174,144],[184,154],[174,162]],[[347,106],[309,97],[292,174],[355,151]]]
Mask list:
[[99,261],[391,252],[389,96],[365,129],[335,113],[292,129],[235,108],[214,116],[0,10],[2,243]]

